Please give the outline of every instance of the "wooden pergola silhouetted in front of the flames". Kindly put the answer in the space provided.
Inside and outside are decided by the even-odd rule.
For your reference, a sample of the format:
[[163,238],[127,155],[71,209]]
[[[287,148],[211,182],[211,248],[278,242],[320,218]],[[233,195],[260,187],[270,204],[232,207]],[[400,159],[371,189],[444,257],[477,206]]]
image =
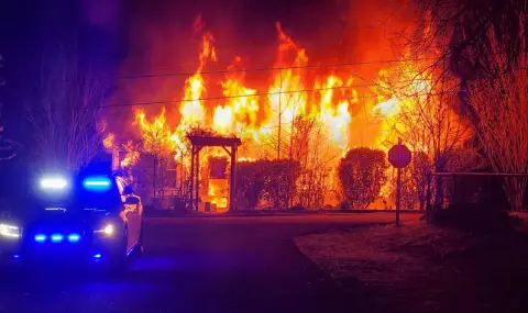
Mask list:
[[[229,178],[229,211],[235,210],[234,197],[237,194],[235,174],[237,174],[237,149],[242,142],[238,137],[221,136],[199,136],[189,135],[190,142],[190,208],[198,211],[199,203],[199,174],[200,174],[200,150],[204,147],[222,147],[231,157],[231,174]],[[230,148],[230,149],[228,149]]]

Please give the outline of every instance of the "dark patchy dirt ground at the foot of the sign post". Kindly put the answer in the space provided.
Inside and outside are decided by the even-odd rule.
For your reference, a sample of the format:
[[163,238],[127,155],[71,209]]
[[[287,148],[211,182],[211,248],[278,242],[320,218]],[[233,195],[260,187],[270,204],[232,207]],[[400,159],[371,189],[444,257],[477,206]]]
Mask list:
[[528,312],[528,235],[414,222],[311,234],[300,250],[371,312]]

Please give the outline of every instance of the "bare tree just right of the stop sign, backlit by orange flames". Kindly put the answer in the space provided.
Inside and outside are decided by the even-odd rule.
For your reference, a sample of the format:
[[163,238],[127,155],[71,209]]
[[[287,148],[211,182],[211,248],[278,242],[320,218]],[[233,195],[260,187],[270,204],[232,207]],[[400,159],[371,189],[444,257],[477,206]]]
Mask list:
[[[426,174],[420,175],[427,179],[421,185],[427,185],[429,194],[432,183],[435,185],[435,209],[438,210],[443,206],[443,180],[437,177],[435,182],[430,181],[430,172],[447,170],[450,154],[471,135],[470,123],[454,110],[459,101],[458,83],[457,80],[447,78],[446,63],[443,67],[427,74],[417,66],[399,72],[400,76],[396,76],[388,85],[393,94],[403,102],[392,128],[405,139],[415,154],[424,153],[428,156],[420,163],[418,171]],[[436,74],[443,78],[435,79]]]

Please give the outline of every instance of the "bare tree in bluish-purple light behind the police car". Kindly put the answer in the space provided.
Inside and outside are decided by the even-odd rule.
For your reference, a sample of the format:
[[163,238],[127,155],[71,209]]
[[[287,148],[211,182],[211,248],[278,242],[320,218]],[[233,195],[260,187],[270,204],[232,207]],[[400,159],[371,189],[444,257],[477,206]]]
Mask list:
[[47,166],[76,169],[101,148],[109,83],[81,64],[76,47],[44,56],[40,74],[36,99],[25,105],[34,152]]

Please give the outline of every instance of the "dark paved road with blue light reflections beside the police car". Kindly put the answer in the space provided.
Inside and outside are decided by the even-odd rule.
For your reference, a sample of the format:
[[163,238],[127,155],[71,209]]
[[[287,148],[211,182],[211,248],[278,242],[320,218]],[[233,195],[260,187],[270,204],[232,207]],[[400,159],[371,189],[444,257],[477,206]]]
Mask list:
[[[417,219],[404,215],[405,220]],[[147,219],[145,254],[119,278],[55,272],[0,284],[0,312],[361,312],[293,243],[386,213]]]

